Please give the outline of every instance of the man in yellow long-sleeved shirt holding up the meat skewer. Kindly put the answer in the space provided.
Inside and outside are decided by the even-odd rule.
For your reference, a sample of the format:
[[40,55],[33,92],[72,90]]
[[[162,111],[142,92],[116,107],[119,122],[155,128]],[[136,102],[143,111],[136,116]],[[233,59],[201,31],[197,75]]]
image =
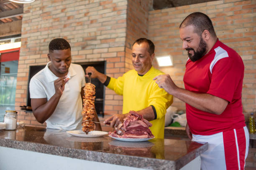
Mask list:
[[92,78],[97,78],[118,95],[123,95],[123,114],[115,114],[104,123],[111,121],[111,127],[117,127],[123,122],[130,110],[137,111],[143,118],[152,123],[151,132],[156,138],[164,138],[164,116],[166,109],[172,104],[173,96],[158,87],[153,78],[164,72],[152,66],[154,59],[154,43],[146,38],[140,38],[133,43],[132,64],[134,69],[123,76],[108,77],[94,67],[87,67],[86,74],[91,72]]

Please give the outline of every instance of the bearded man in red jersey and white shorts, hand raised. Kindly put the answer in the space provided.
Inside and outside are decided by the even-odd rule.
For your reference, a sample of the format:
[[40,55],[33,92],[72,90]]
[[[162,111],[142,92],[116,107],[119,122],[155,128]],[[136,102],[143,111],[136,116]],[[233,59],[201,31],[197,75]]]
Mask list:
[[243,170],[249,134],[241,100],[244,65],[238,53],[218,40],[210,18],[192,13],[179,26],[189,59],[185,89],[169,75],[154,78],[159,87],[186,102],[189,139],[208,142],[202,170]]

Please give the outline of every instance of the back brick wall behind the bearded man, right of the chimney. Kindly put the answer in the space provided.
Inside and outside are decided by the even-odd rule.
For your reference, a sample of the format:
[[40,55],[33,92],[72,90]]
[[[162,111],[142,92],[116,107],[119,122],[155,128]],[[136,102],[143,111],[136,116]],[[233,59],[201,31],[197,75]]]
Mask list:
[[[198,11],[211,18],[218,38],[236,50],[243,59],[242,102],[248,120],[248,114],[256,111],[256,0],[218,0],[150,11],[148,37],[156,45],[156,56],[172,55],[174,59],[174,67],[159,69],[170,74],[179,87],[184,87],[182,80],[188,57],[187,51],[182,50],[179,24],[187,15]],[[185,103],[175,97],[173,106],[185,110]]]

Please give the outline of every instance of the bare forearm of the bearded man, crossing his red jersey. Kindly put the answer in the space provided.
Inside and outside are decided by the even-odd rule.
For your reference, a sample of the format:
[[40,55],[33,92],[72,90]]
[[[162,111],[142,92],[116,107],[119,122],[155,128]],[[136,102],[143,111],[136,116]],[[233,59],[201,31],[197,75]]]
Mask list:
[[220,115],[228,105],[228,101],[207,93],[195,93],[182,88],[177,88],[173,94],[179,100],[209,113]]

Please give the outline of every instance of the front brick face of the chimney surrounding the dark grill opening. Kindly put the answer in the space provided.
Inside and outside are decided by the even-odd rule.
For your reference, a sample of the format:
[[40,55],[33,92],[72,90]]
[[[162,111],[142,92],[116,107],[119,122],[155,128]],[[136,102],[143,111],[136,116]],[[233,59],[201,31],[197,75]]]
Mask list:
[[[45,126],[26,105],[30,65],[45,65],[49,42],[56,37],[69,41],[72,62],[107,61],[106,73],[124,73],[127,0],[36,0],[24,4],[15,106],[18,121]],[[122,97],[105,90],[105,115],[122,112]]]

